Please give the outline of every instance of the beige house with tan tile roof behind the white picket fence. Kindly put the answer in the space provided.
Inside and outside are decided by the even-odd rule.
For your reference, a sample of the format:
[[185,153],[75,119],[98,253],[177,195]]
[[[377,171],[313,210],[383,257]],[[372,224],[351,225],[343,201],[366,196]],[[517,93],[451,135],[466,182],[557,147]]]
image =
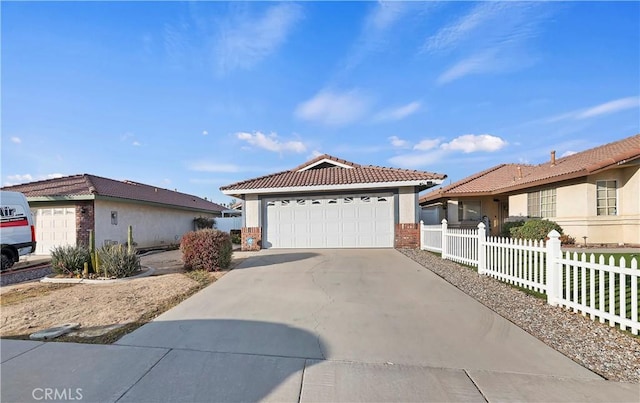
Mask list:
[[640,244],[640,134],[540,165],[502,164],[427,193],[431,224],[548,218],[582,243]]

